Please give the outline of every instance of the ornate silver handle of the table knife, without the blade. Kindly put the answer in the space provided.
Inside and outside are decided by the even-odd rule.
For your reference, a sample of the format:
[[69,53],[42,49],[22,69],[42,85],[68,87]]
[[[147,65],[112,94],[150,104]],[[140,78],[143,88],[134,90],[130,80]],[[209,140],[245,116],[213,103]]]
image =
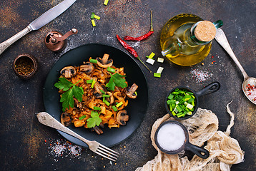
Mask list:
[[29,33],[30,31],[32,31],[32,29],[27,26],[26,28],[24,28],[22,31],[19,31],[19,33],[16,33],[14,36],[12,36],[11,38],[7,39],[6,41],[4,41],[3,43],[0,43],[0,55],[1,53],[4,52],[4,50],[6,50],[6,48],[8,48],[9,46],[11,46],[12,43],[14,43],[15,41],[18,41],[19,38],[25,36],[27,33]]

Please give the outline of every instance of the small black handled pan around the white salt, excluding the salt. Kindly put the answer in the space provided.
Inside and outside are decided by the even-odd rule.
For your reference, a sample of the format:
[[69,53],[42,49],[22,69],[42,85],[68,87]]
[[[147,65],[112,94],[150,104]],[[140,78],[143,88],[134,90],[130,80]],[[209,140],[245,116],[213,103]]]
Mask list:
[[[177,124],[184,130],[184,135],[185,135],[184,144],[181,147],[179,147],[179,149],[177,149],[177,150],[172,150],[172,151],[164,150],[164,148],[162,148],[159,145],[159,142],[157,140],[157,135],[159,133],[159,130],[162,128],[162,126],[164,126],[166,124]],[[161,125],[159,125],[156,133],[154,134],[154,142],[156,143],[159,150],[161,150],[162,152],[169,154],[169,155],[177,154],[177,153],[181,152],[182,150],[189,150],[191,152],[194,152],[198,157],[201,157],[203,159],[208,158],[210,155],[209,151],[206,150],[205,148],[199,147],[197,145],[192,145],[189,142],[189,133],[187,132],[187,128],[185,128],[184,125],[182,125],[182,123],[179,123],[176,120],[169,120],[169,121],[166,121],[166,122],[162,123]]]

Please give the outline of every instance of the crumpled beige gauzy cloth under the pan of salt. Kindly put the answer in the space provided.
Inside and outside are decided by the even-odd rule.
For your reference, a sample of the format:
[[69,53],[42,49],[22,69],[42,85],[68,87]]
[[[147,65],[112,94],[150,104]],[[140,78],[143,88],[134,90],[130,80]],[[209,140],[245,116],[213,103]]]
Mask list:
[[[153,160],[148,161],[143,167],[138,167],[136,171],[194,171],[194,170],[230,170],[232,164],[240,163],[244,160],[245,152],[240,148],[239,143],[231,138],[230,128],[234,125],[234,114],[227,105],[227,113],[230,114],[230,125],[223,133],[218,130],[219,121],[215,113],[210,110],[198,108],[197,113],[187,120],[179,120],[189,131],[189,142],[194,145],[202,146],[209,150],[210,157],[202,159],[194,155],[192,160],[188,160],[183,154],[167,155],[161,152],[154,143],[154,133],[161,123],[167,120],[174,120],[169,114],[159,118],[152,126],[151,140],[152,145],[158,151]],[[183,152],[184,153],[184,152]]]

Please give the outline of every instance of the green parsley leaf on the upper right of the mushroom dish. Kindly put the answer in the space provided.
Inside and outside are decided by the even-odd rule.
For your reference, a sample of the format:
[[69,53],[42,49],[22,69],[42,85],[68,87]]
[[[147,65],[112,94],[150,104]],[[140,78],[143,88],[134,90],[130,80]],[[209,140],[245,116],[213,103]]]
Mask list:
[[114,86],[126,88],[127,83],[125,83],[125,79],[123,77],[125,76],[122,76],[119,73],[115,73],[114,75],[111,75],[111,78],[109,79],[109,83],[106,84],[106,87],[109,88],[110,90],[114,90]]

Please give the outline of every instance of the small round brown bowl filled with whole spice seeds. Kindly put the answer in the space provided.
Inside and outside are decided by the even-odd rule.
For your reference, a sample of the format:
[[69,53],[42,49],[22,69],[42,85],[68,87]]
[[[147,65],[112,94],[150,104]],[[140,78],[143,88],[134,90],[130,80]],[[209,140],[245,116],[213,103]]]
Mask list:
[[21,54],[14,59],[14,72],[23,79],[29,79],[37,71],[38,62],[34,56],[29,54]]

